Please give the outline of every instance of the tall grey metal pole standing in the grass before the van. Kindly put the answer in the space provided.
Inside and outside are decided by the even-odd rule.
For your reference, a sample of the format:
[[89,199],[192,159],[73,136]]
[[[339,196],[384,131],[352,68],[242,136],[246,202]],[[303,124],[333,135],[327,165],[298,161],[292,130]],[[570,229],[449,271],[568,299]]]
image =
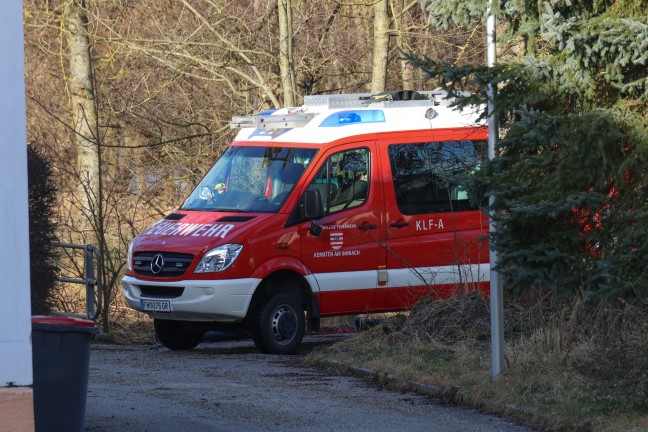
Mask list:
[[[492,10],[493,0],[488,0],[486,21],[486,50],[488,54],[488,67],[493,67],[497,62],[495,14]],[[497,143],[498,129],[495,115],[495,97],[497,88],[493,83],[488,84],[488,158],[495,158],[495,144]],[[490,197],[493,205],[495,198]],[[495,232],[495,222],[490,220],[489,231]],[[493,270],[497,264],[497,253],[490,253],[490,307],[491,307],[491,378],[495,379],[504,371],[504,293],[499,273]]]

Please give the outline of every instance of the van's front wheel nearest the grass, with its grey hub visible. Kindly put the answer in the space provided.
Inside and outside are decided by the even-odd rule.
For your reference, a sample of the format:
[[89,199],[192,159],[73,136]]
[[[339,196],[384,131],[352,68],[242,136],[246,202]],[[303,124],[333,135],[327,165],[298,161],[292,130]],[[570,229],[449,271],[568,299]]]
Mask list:
[[275,294],[254,313],[252,338],[257,348],[265,353],[294,353],[305,331],[304,308],[294,294]]

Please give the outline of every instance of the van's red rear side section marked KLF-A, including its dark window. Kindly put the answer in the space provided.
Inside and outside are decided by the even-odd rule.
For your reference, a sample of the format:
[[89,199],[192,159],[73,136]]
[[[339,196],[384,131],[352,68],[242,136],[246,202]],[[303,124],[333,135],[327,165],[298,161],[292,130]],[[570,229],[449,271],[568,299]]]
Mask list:
[[485,287],[487,218],[456,179],[479,168],[486,143],[466,137],[466,130],[435,131],[380,142],[386,309],[409,308],[423,295],[438,299]]

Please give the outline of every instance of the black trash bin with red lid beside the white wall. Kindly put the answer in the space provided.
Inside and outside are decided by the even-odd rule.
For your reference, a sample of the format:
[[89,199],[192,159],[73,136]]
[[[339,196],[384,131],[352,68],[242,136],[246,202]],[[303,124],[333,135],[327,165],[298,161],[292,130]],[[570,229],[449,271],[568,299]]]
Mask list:
[[89,319],[32,317],[36,432],[83,431],[90,340],[98,332]]

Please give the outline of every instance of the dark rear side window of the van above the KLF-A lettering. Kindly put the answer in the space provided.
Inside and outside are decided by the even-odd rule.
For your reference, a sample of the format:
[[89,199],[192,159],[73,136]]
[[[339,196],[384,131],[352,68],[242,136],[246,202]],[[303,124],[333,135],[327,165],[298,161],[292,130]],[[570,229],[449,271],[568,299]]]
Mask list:
[[475,210],[457,176],[479,169],[483,141],[444,141],[389,146],[396,203],[406,215]]

